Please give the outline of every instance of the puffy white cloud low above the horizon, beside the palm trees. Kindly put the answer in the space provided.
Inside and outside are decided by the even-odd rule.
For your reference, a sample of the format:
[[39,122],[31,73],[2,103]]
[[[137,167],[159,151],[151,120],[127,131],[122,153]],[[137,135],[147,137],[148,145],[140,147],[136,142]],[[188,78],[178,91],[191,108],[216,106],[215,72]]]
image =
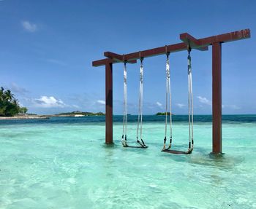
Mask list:
[[65,106],[67,106],[62,100],[58,100],[53,96],[41,96],[41,98],[39,99],[34,99],[33,102],[35,106],[42,108],[64,108]]

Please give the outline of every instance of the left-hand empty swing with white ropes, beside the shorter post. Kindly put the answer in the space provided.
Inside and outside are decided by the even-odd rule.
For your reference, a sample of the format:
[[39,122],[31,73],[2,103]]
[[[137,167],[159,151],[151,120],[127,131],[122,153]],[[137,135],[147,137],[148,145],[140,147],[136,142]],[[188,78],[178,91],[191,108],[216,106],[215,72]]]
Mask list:
[[[142,107],[143,107],[143,58],[140,57],[140,93],[139,93],[139,111],[138,111],[138,125],[136,142],[138,146],[129,146],[127,143],[127,61],[124,61],[124,117],[123,117],[123,135],[121,137],[121,143],[124,147],[130,148],[142,148],[146,149],[148,146],[142,139]],[[140,138],[139,138],[140,130]]]

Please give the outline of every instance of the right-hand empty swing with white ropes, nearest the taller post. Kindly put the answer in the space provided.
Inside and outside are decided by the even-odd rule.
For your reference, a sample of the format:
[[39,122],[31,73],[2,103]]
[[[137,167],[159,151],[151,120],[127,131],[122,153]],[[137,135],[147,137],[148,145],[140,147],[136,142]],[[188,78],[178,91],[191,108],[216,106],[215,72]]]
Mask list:
[[[187,69],[188,69],[188,106],[189,106],[189,148],[187,151],[178,151],[171,149],[172,141],[173,141],[173,130],[172,130],[172,111],[171,111],[171,93],[170,93],[170,61],[169,55],[170,52],[166,52],[166,95],[165,95],[165,138],[164,138],[164,146],[162,151],[172,153],[172,154],[191,154],[194,148],[194,139],[193,139],[193,92],[192,92],[192,68],[191,68],[191,57],[190,52],[191,48],[187,47],[188,56],[187,56]],[[167,103],[169,98],[170,105],[170,143],[166,148],[165,143],[167,141]]]

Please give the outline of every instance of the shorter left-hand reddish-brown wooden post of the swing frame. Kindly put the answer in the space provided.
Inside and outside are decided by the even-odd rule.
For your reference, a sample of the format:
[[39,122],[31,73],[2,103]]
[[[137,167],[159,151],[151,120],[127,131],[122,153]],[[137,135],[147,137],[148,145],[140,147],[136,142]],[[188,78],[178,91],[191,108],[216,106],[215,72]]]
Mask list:
[[113,64],[105,64],[105,143],[113,143]]

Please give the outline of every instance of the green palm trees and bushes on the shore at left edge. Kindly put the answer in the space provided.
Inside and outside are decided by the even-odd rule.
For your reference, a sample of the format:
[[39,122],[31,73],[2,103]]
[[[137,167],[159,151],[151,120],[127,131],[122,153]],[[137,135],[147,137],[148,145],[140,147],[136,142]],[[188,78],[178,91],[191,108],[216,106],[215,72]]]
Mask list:
[[0,89],[0,116],[12,117],[15,114],[26,114],[28,109],[20,107],[18,100],[14,97],[10,90]]

